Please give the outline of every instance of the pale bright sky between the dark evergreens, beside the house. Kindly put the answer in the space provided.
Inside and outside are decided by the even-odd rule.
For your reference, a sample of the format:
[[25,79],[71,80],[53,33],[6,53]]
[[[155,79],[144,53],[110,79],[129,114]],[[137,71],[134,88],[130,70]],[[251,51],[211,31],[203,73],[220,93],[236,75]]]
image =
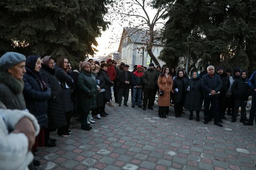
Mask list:
[[[150,18],[150,21],[152,21],[152,19],[154,18],[157,10],[156,9],[151,9],[150,7],[147,7],[146,11],[148,12],[148,16]],[[143,11],[141,11],[140,14],[143,15],[144,14]],[[133,20],[133,18],[129,18],[129,19]],[[161,20],[161,21],[163,22],[163,20]],[[138,23],[139,23],[139,21],[138,21]],[[123,28],[125,26],[129,26],[128,21],[124,22],[123,26],[121,26],[121,21],[114,20],[112,22],[112,24],[109,26],[109,29],[106,30],[105,32],[102,32],[101,37],[98,37],[96,39],[98,44],[99,44],[98,47],[96,47],[96,49],[98,49],[99,52],[96,52],[95,55],[108,55],[111,52],[117,51],[118,46],[119,46],[119,42],[120,42],[120,39],[121,39],[121,35],[122,35],[122,32],[123,32]],[[117,38],[115,37],[115,40],[118,40],[118,41],[110,39],[114,36],[114,33],[116,33],[116,35],[117,35]],[[114,43],[112,43],[110,45],[109,42],[114,42]]]

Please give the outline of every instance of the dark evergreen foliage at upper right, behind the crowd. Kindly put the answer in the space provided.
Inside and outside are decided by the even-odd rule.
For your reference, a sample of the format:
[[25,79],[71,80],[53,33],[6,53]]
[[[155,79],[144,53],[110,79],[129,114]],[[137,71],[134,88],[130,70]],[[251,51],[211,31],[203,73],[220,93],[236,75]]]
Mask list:
[[178,66],[189,50],[190,68],[202,70],[210,63],[255,69],[256,0],[177,0],[164,17],[159,58],[166,63]]

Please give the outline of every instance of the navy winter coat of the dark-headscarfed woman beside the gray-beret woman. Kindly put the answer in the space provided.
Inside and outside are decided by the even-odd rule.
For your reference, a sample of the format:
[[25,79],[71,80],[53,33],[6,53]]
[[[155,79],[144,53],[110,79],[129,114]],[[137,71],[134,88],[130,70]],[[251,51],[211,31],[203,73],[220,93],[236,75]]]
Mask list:
[[47,101],[51,98],[50,87],[46,86],[45,83],[43,87],[39,86],[37,81],[40,81],[41,71],[39,71],[38,75],[28,67],[26,67],[26,71],[23,76],[23,94],[27,109],[36,117],[40,128],[46,128],[48,125]]

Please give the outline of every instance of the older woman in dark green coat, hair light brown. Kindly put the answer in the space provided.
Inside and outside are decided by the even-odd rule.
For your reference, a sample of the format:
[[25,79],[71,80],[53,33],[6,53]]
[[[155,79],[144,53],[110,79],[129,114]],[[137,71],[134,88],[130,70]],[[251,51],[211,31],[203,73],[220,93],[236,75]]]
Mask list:
[[77,78],[78,88],[78,107],[81,111],[81,129],[91,130],[92,127],[87,124],[87,117],[92,109],[96,108],[97,83],[95,76],[91,72],[91,64],[82,62],[81,71]]

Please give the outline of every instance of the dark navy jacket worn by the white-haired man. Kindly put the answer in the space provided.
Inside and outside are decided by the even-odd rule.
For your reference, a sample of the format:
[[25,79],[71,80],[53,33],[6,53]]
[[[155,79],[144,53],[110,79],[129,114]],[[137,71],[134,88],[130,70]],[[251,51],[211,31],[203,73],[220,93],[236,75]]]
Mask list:
[[222,81],[220,79],[220,76],[214,73],[214,76],[212,78],[209,74],[205,74],[201,79],[201,87],[203,89],[204,98],[218,98],[219,94],[215,94],[212,96],[209,95],[209,93],[211,93],[211,90],[215,90],[216,93],[220,92],[220,89],[222,87]]

